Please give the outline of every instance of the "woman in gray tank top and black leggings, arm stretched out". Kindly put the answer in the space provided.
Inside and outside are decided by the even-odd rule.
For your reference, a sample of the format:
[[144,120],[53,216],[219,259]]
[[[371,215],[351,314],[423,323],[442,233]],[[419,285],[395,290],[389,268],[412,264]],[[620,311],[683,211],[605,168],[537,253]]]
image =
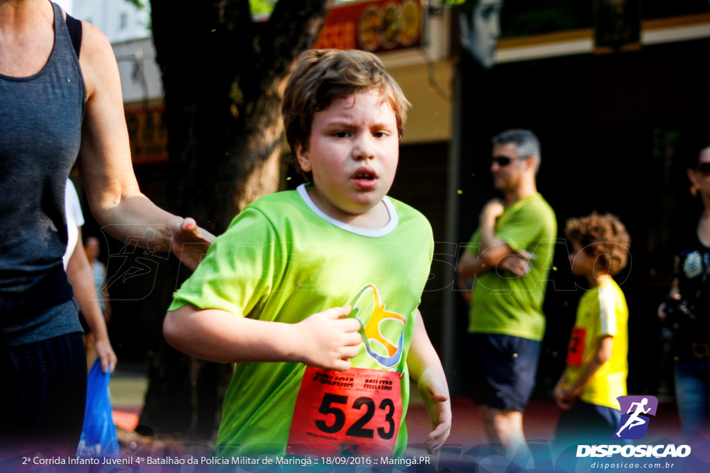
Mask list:
[[141,194],[113,50],[89,23],[80,31],[75,49],[55,4],[0,1],[0,460],[45,446],[73,456],[81,433],[86,362],[62,267],[74,162],[115,238],[173,251],[192,269],[214,239]]

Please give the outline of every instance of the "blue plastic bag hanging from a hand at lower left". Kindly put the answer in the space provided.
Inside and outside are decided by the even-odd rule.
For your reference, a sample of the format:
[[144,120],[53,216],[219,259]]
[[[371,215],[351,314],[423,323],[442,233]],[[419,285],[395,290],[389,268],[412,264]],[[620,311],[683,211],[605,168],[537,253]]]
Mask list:
[[87,407],[84,428],[79,441],[79,457],[119,457],[119,439],[111,412],[110,373],[102,373],[101,360],[96,360],[87,379]]

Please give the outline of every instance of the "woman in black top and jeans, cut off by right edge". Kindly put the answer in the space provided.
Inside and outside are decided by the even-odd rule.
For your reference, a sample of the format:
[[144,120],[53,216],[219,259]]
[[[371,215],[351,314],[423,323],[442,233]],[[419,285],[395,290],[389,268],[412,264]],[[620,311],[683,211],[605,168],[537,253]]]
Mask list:
[[692,150],[692,194],[703,208],[678,228],[676,277],[659,316],[673,330],[675,391],[687,433],[710,430],[710,138]]

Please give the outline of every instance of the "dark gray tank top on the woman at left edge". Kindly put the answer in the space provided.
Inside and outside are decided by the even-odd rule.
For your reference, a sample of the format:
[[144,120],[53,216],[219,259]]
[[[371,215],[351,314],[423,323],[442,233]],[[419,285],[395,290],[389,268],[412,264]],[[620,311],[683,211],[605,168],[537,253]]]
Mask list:
[[43,69],[0,74],[0,323],[11,345],[81,331],[62,255],[86,89],[62,10],[52,6],[54,47]]

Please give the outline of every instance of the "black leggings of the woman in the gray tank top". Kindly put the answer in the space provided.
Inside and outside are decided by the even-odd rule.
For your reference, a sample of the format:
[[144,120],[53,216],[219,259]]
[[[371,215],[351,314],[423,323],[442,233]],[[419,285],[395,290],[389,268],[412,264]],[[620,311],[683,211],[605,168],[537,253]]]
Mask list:
[[5,455],[49,447],[74,456],[84,423],[87,363],[81,333],[0,352],[0,442]]

